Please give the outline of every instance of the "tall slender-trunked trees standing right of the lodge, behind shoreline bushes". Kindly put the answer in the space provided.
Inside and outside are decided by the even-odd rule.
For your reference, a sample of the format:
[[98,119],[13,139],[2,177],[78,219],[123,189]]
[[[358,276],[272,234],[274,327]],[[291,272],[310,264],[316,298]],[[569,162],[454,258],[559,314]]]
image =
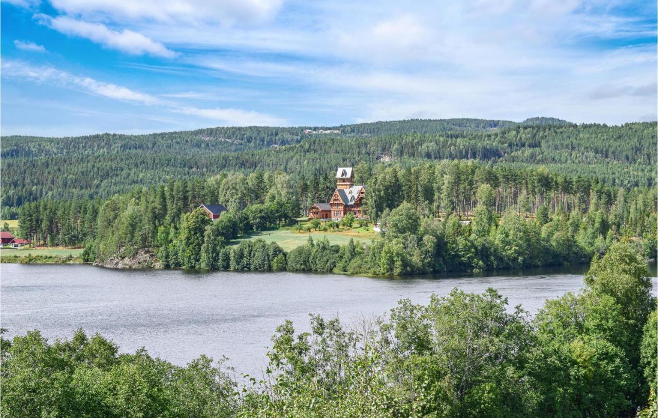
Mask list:
[[[570,177],[540,168],[509,168],[492,164],[442,162],[418,164],[414,167],[378,165],[374,170],[367,164],[355,167],[355,181],[368,186],[370,218],[377,220],[386,209],[402,202],[410,202],[426,214],[441,212],[457,215],[472,214],[478,204],[477,191],[481,185],[493,188],[492,209],[496,214],[513,208],[519,214],[534,216],[542,205],[551,212],[609,213],[613,206],[625,214],[630,212],[630,195],[643,195],[643,212],[652,212],[655,193],[650,190],[611,187],[592,177]],[[652,194],[653,193],[653,194]],[[631,200],[628,200],[628,199]]]

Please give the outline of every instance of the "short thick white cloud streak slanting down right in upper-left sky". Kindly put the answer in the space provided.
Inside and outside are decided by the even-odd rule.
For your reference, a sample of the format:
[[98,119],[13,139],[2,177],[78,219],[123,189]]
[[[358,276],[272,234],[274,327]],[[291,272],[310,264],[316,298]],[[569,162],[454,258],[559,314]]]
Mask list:
[[167,49],[162,43],[153,41],[148,37],[124,29],[120,31],[111,30],[100,23],[89,23],[76,20],[67,16],[51,17],[45,14],[36,15],[39,23],[45,24],[57,32],[65,35],[80,36],[104,47],[116,49],[132,55],[154,55],[157,57],[176,57],[174,51]]

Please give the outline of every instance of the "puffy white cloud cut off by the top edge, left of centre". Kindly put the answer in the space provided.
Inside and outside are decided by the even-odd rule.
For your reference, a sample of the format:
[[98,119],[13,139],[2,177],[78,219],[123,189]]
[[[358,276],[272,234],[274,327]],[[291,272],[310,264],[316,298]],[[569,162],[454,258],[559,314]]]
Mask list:
[[272,18],[283,0],[51,0],[68,14],[89,18],[159,22],[259,23]]

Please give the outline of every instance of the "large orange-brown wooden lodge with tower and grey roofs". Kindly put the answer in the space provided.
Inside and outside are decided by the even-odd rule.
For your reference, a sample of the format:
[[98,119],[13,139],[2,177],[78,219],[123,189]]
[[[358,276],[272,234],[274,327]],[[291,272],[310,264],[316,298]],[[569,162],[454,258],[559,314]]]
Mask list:
[[363,218],[365,185],[354,185],[354,172],[351,167],[340,167],[336,171],[336,190],[329,203],[314,203],[309,208],[310,219],[340,221],[348,213],[355,218]]

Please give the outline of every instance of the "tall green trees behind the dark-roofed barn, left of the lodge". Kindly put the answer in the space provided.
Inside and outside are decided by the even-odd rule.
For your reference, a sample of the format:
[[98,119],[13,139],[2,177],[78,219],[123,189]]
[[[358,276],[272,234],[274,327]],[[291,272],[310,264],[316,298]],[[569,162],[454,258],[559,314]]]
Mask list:
[[[288,223],[299,216],[295,186],[284,173],[222,173],[174,181],[107,200],[41,200],[21,206],[20,235],[35,244],[83,246],[97,239],[144,248],[159,230],[178,231],[181,218],[203,203],[222,203],[240,215],[240,233]],[[207,216],[206,216],[207,217]],[[222,221],[230,219],[229,214]],[[232,239],[233,237],[228,237]],[[109,252],[118,247],[112,246]]]

